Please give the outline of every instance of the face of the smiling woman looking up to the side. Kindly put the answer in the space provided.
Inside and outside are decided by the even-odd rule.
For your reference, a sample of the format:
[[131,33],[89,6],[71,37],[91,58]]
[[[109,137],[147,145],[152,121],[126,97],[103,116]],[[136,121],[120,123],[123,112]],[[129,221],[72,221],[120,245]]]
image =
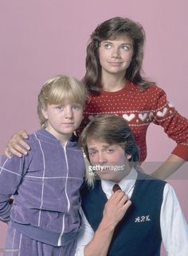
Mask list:
[[99,47],[102,77],[106,73],[125,75],[131,64],[133,41],[127,35],[119,36],[116,40],[101,41]]

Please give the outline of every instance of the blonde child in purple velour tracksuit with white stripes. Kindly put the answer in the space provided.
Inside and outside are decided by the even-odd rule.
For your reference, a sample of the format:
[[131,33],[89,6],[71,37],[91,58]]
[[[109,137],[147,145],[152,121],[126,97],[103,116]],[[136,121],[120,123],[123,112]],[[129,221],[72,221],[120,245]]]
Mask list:
[[74,254],[84,160],[73,132],[85,97],[76,78],[50,78],[38,96],[41,128],[29,135],[32,149],[22,158],[2,156],[0,219],[8,223],[6,248],[14,255]]

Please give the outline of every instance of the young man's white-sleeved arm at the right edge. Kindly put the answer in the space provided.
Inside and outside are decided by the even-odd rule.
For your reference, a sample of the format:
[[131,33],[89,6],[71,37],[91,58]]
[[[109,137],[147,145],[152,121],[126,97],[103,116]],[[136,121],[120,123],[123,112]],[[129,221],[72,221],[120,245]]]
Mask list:
[[188,226],[174,189],[169,184],[164,187],[160,225],[166,254],[187,255]]

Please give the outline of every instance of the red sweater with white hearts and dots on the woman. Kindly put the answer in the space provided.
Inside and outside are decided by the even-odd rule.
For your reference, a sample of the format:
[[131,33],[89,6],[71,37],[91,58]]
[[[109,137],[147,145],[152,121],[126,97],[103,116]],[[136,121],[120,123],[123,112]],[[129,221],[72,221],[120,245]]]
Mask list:
[[99,96],[91,95],[79,132],[97,114],[123,116],[135,136],[141,162],[147,157],[146,134],[151,122],[161,125],[167,136],[176,141],[177,146],[172,153],[188,160],[188,120],[178,114],[166,100],[166,93],[158,86],[141,91],[138,85],[128,82],[117,92],[102,90]]

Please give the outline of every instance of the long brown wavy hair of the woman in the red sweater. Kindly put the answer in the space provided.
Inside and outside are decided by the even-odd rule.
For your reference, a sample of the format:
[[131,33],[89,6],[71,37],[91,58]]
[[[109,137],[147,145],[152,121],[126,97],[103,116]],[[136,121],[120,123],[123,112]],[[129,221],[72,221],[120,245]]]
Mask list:
[[115,40],[119,35],[126,34],[133,41],[134,53],[131,64],[127,68],[125,78],[139,85],[141,89],[147,89],[155,82],[147,81],[143,77],[143,45],[145,42],[145,32],[143,26],[138,22],[133,22],[129,18],[115,17],[108,19],[96,27],[92,33],[87,46],[85,60],[86,73],[83,78],[84,85],[90,93],[100,93],[101,85],[101,65],[99,58],[99,47],[101,41]]

